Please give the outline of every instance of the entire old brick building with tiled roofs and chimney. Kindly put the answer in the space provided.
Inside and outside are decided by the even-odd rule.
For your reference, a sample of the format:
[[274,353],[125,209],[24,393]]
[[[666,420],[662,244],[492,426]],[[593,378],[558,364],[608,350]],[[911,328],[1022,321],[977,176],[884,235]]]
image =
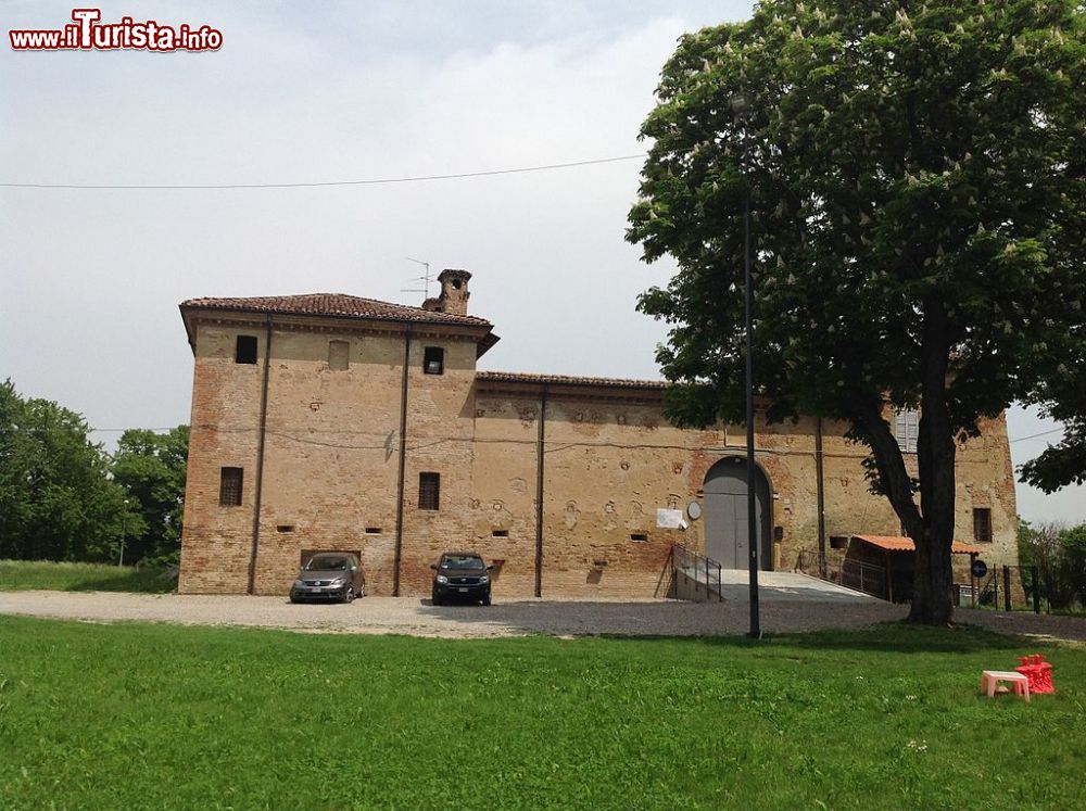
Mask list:
[[[497,597],[660,595],[674,543],[746,566],[743,426],[669,424],[659,382],[478,371],[498,339],[467,314],[469,279],[445,270],[422,307],[181,304],[195,359],[181,592],[286,594],[320,549],[358,553],[371,594],[427,593],[454,548],[496,562]],[[907,451],[913,417],[894,420]],[[900,534],[843,424],[755,428],[762,568]],[[1013,563],[1006,423],[983,429],[958,455],[957,537]],[[685,527],[658,527],[658,509]]]

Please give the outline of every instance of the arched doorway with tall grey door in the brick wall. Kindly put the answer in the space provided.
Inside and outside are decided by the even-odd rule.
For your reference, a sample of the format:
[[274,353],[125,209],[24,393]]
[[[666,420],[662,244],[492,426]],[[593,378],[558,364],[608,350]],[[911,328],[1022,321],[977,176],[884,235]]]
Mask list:
[[[749,532],[747,531],[747,466],[742,456],[729,456],[705,476],[705,556],[725,569],[747,569]],[[758,524],[758,568],[773,568],[773,545],[769,525],[769,480],[755,466],[755,516]]]

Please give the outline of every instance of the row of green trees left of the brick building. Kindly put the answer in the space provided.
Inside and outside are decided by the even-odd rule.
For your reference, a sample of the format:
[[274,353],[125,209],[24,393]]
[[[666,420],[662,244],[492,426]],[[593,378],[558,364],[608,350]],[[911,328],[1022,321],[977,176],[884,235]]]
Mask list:
[[189,429],[125,431],[113,454],[87,421],[0,384],[0,558],[173,565]]

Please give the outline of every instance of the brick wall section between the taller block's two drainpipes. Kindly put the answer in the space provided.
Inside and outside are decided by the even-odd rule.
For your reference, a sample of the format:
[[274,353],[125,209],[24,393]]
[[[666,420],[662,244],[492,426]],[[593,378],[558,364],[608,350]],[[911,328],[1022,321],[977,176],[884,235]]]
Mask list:
[[[345,370],[329,367],[332,339]],[[285,594],[303,550],[339,549],[391,593],[402,338],[281,331],[272,357],[256,592]]]

